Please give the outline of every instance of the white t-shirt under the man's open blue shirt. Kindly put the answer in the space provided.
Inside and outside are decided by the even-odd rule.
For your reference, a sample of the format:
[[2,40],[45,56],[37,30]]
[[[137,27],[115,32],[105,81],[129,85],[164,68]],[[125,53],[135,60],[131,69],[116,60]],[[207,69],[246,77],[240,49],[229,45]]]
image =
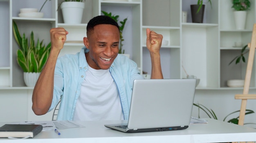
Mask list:
[[74,121],[123,120],[117,86],[108,69],[88,66],[74,111]]

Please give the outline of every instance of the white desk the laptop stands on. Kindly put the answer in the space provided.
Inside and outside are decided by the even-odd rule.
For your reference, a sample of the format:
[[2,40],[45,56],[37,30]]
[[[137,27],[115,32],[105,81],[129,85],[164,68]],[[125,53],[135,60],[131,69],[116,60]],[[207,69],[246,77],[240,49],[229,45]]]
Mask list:
[[[256,141],[256,129],[219,120],[207,119],[208,124],[191,124],[185,130],[124,133],[104,127],[117,121],[79,122],[85,128],[42,131],[33,139],[0,139],[0,143],[213,143]],[[122,121],[118,121],[122,122]],[[0,126],[6,123],[0,123]]]

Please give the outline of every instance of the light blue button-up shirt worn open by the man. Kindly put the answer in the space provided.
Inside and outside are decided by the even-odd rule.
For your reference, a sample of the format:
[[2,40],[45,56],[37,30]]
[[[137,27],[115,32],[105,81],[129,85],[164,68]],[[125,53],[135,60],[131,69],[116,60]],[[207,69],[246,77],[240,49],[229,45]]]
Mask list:
[[[88,51],[83,47],[77,54],[67,54],[57,60],[54,72],[54,95],[49,108],[49,111],[52,111],[61,99],[57,120],[73,119],[76,102],[81,92],[81,84],[89,66],[85,58],[85,53]],[[117,85],[124,119],[127,120],[133,80],[143,79],[143,76],[139,74],[137,64],[121,54],[115,58],[109,72]]]

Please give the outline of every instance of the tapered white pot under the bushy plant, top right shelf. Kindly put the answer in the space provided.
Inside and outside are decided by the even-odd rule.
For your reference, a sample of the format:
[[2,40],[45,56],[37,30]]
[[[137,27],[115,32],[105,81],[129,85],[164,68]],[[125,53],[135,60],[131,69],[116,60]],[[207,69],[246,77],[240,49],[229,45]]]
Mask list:
[[235,24],[237,30],[245,29],[247,11],[234,11]]

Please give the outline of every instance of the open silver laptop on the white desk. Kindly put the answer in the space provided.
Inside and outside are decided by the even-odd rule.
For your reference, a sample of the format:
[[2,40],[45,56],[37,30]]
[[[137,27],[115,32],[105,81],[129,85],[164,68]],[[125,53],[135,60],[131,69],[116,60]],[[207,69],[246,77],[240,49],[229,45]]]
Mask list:
[[137,79],[128,124],[106,124],[122,132],[182,130],[189,127],[196,79]]

